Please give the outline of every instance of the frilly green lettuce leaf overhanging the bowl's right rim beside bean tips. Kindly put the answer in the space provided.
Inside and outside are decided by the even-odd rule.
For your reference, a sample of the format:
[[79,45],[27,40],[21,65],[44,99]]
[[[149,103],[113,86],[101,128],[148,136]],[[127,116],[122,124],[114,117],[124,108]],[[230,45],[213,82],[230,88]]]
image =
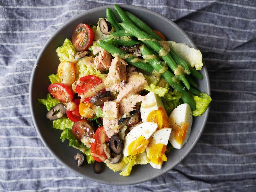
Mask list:
[[193,95],[193,99],[196,103],[196,110],[192,111],[194,117],[201,116],[212,101],[212,98],[206,93],[200,93],[198,96]]

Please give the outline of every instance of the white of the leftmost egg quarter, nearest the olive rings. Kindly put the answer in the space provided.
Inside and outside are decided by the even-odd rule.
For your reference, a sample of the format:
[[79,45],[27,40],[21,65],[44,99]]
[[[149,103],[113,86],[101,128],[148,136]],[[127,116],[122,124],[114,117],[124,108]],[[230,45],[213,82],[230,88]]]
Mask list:
[[123,149],[124,156],[129,156],[128,146],[131,144],[131,142],[135,141],[140,136],[148,139],[156,131],[157,126],[158,125],[156,123],[145,122],[134,127],[125,137]]

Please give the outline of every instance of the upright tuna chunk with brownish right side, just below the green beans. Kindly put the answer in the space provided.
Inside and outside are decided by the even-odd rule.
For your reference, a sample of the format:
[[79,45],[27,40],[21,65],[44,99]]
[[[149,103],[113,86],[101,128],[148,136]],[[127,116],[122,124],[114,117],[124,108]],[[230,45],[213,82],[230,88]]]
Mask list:
[[126,65],[127,63],[120,57],[115,57],[112,59],[108,76],[104,80],[105,86],[110,88],[112,92],[119,92],[119,90],[115,90],[115,88],[122,87],[125,84],[124,81],[126,81]]

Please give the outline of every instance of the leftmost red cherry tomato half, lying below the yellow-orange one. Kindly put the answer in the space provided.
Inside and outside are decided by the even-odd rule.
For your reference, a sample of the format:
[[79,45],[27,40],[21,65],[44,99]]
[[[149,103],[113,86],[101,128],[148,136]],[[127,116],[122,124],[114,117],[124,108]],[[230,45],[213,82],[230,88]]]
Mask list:
[[48,87],[49,93],[60,100],[63,103],[67,103],[73,100],[73,92],[70,87],[64,83],[53,83]]

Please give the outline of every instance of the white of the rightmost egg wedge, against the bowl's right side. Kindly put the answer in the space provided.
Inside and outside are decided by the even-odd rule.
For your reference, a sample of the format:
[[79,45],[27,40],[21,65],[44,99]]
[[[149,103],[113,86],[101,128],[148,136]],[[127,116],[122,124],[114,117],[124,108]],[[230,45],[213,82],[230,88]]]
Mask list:
[[188,128],[187,128],[186,137],[185,137],[184,141],[181,144],[179,144],[174,138],[174,134],[175,134],[176,130],[173,129],[173,131],[170,134],[170,138],[169,138],[170,143],[172,144],[172,146],[174,148],[180,149],[187,142],[188,137],[189,137],[190,132],[191,132],[191,126],[192,126],[193,118],[192,118],[192,111],[191,111],[190,106],[187,103],[184,103],[184,104],[181,104],[181,105],[177,106],[172,111],[169,118],[172,118],[175,121],[175,123],[177,123],[177,124],[180,124],[182,122],[189,123]]

